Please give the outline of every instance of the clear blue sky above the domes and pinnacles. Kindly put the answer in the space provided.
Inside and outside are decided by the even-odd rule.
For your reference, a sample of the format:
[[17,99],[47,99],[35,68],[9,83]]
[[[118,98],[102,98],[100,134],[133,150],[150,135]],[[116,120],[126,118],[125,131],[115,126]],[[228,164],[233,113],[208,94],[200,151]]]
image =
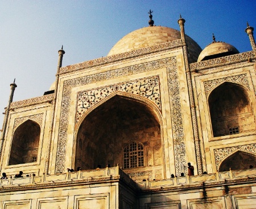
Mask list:
[[[127,33],[148,26],[150,9],[155,25],[175,29],[181,14],[185,33],[201,48],[212,42],[214,33],[217,41],[240,52],[251,50],[245,28],[248,21],[256,30],[255,0],[0,0],[0,111],[7,106],[14,78],[14,101],[48,91],[55,81],[61,45],[66,52],[63,66],[104,57]],[[1,127],[2,121],[0,114]]]

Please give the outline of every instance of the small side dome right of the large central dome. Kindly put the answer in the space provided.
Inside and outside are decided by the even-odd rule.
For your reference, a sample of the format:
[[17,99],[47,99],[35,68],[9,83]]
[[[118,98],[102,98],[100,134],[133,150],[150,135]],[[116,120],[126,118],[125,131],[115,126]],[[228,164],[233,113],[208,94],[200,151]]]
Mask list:
[[200,53],[197,62],[229,56],[232,54],[239,54],[238,50],[234,46],[225,42],[214,41],[204,48],[204,50]]

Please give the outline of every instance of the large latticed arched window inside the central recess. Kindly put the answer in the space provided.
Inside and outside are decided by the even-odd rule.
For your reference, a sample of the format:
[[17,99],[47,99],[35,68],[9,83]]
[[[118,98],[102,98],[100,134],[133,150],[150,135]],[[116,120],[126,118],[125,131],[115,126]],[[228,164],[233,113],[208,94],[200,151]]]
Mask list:
[[123,150],[123,168],[136,168],[144,166],[143,146],[131,142]]

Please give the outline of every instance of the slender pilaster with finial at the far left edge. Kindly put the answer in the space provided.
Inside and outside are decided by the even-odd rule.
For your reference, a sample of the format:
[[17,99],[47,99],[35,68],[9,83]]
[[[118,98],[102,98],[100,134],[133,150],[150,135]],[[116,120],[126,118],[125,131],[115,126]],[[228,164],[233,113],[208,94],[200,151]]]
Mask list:
[[15,79],[14,79],[14,82],[10,84],[10,86],[11,86],[11,93],[9,96],[7,108],[5,110],[5,118],[3,120],[3,128],[2,128],[2,134],[0,139],[0,159],[2,157],[3,142],[5,141],[5,134],[6,134],[7,122],[9,118],[10,106],[11,106],[11,103],[13,102],[13,95],[14,95],[15,88],[17,87],[17,85],[15,84]]

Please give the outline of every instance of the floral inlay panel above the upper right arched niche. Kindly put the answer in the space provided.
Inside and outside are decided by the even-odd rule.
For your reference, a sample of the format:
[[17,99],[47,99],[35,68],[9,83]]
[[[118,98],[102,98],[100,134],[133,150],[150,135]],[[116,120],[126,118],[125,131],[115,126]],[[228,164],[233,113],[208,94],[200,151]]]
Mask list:
[[246,86],[250,89],[248,78],[246,74],[236,75],[236,76],[230,76],[226,78],[220,78],[216,80],[209,80],[207,82],[204,82],[204,89],[205,89],[205,95],[208,96],[209,92],[216,86],[220,85],[224,82],[234,82],[234,83],[240,83],[243,86]]

